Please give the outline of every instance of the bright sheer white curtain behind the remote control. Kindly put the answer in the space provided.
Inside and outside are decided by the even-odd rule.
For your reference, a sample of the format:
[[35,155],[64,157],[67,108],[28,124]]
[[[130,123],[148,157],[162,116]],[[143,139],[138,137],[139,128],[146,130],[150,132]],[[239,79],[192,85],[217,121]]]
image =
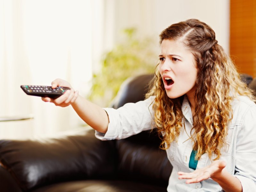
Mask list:
[[0,117],[34,116],[28,121],[0,122],[0,139],[49,136],[84,125],[71,106],[44,103],[26,95],[20,85],[51,85],[62,78],[85,97],[92,60],[99,66],[97,58],[102,54],[102,45],[92,46],[92,41],[103,36],[103,3],[0,0]]

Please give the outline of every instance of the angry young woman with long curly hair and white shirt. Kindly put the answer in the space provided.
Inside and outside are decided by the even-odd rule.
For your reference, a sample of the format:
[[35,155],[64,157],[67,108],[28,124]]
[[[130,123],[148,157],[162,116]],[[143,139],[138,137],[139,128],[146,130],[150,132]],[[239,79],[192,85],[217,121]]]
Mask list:
[[160,34],[155,81],[144,101],[100,108],[71,90],[52,100],[72,105],[101,140],[157,127],[173,170],[167,191],[256,191],[256,105],[214,31],[196,19]]

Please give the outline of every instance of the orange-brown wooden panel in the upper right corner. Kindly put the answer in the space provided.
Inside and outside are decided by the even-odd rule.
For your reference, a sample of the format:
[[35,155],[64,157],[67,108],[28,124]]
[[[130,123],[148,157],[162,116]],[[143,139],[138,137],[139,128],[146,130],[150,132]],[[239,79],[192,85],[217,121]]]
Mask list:
[[230,0],[230,56],[241,73],[256,77],[256,0]]

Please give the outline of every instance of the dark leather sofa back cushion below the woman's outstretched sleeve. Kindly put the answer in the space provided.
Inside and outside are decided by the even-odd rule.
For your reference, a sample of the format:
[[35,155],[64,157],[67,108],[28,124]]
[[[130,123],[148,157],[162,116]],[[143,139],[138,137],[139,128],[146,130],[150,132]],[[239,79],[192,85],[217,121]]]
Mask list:
[[152,145],[149,140],[144,140],[143,134],[149,135],[148,132],[141,132],[135,136],[141,136],[140,143],[133,136],[116,142],[118,175],[125,180],[157,183],[167,188],[172,165],[166,151],[159,149],[159,145]]

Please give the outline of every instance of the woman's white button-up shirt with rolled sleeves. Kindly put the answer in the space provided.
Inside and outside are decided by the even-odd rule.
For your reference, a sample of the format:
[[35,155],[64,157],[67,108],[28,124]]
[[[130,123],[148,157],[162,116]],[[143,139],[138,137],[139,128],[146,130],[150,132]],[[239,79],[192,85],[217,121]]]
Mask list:
[[[154,97],[137,103],[127,103],[118,109],[104,108],[109,117],[108,131],[106,134],[96,132],[95,136],[100,140],[123,139],[152,129],[154,127],[152,101]],[[193,118],[186,96],[181,109],[186,131],[190,135]],[[221,149],[220,159],[226,161],[228,172],[240,180],[244,192],[256,191],[256,104],[247,97],[239,96],[232,102],[232,109],[233,119],[228,125],[228,145]],[[166,150],[167,157],[173,166],[167,191],[221,191],[220,185],[211,178],[192,184],[186,184],[186,179],[178,179],[177,172],[194,171],[188,167],[193,143],[191,139],[188,140],[187,133],[183,125],[178,142],[172,142],[170,148]],[[204,154],[198,160],[196,169],[209,164],[211,160],[207,154]]]

